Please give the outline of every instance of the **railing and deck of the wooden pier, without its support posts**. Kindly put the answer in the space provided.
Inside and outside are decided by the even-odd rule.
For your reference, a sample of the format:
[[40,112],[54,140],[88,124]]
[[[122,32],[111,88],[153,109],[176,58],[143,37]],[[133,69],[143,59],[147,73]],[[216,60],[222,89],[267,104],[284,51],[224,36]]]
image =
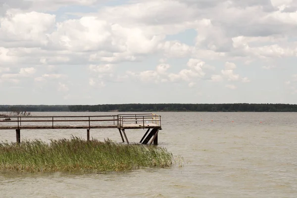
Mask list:
[[[3,120],[2,120],[3,118]],[[59,127],[92,128],[122,128],[125,125],[136,124],[145,128],[146,126],[161,127],[161,116],[156,114],[119,114],[119,115],[90,115],[90,116],[5,116],[0,118],[0,129],[20,129],[24,127],[46,129],[57,129]],[[10,118],[7,120],[5,118]],[[7,126],[7,128],[5,128]]]

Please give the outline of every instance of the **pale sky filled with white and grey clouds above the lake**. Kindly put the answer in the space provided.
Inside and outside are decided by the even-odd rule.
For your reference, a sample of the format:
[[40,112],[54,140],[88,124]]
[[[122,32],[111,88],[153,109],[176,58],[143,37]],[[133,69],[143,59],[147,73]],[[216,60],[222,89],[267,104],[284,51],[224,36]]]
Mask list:
[[297,103],[297,0],[0,0],[0,104]]

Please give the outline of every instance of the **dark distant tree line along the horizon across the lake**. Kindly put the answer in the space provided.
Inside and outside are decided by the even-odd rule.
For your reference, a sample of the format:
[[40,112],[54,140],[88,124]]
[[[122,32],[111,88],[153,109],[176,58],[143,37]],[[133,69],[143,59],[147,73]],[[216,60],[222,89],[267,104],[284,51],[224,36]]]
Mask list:
[[99,104],[99,105],[0,105],[0,111],[208,111],[297,112],[297,104]]

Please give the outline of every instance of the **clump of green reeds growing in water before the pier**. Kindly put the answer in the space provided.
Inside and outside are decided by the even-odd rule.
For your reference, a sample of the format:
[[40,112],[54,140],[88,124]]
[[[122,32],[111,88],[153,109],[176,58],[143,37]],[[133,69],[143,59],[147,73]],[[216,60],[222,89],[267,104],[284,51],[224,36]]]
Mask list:
[[102,172],[141,167],[169,167],[172,153],[165,148],[119,145],[110,140],[68,139],[0,143],[0,172]]

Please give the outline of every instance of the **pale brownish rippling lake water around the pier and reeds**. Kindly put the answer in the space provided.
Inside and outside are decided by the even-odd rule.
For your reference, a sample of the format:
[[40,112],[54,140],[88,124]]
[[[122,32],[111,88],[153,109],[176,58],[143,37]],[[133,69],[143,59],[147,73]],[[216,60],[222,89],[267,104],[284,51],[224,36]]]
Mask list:
[[[114,112],[45,112],[33,115]],[[296,198],[297,113],[159,112],[159,146],[184,158],[166,169],[104,174],[1,174],[1,198]],[[213,120],[213,121],[211,121]],[[234,121],[234,122],[232,122]],[[139,142],[144,130],[126,130]],[[22,139],[86,138],[86,130],[22,130]],[[117,129],[91,136],[121,142]],[[15,142],[15,130],[0,131]]]

